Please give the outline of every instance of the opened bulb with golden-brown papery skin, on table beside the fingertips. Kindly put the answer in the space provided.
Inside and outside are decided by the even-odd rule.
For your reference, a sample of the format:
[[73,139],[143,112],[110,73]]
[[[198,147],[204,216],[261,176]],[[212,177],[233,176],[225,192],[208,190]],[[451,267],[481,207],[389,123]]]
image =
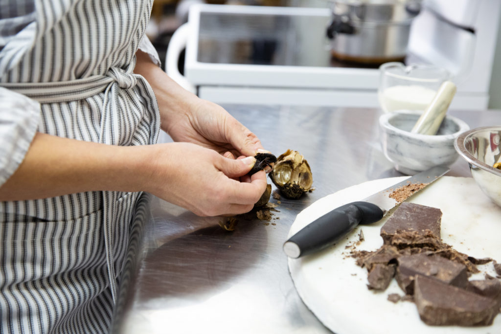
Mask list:
[[311,189],[313,176],[308,161],[298,151],[287,150],[277,158],[270,173],[273,183],[285,197],[297,199]]

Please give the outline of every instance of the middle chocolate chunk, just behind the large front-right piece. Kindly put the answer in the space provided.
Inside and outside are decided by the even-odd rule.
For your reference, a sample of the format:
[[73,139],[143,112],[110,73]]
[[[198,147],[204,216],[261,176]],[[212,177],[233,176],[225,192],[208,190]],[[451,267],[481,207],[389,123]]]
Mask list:
[[406,294],[414,292],[414,280],[418,274],[462,288],[468,283],[466,267],[446,258],[427,254],[398,258],[396,280]]

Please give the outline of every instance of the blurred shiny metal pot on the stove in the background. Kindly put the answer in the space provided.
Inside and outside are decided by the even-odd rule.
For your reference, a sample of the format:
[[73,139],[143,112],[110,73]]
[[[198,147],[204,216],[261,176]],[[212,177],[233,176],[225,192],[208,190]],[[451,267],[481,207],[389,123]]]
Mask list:
[[422,0],[331,0],[327,28],[331,52],[341,61],[383,64],[407,54],[410,25]]

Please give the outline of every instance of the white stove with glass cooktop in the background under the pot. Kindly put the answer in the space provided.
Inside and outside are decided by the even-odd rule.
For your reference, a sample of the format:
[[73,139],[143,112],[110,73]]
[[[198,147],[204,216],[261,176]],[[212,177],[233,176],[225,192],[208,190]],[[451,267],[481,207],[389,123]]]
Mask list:
[[[412,20],[405,64],[446,69],[457,86],[451,109],[487,108],[500,8],[498,0],[425,0]],[[331,20],[327,7],[193,5],[166,71],[219,104],[377,108],[377,66],[334,60]],[[183,76],[176,51],[184,45]]]

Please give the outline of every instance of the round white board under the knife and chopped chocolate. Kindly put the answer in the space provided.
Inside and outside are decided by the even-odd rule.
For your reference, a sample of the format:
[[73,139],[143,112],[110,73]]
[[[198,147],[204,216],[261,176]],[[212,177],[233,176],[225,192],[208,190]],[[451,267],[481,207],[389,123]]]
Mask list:
[[[289,236],[338,206],[361,200],[406,178],[368,181],[321,198],[298,214]],[[445,243],[470,256],[501,262],[501,208],[483,194],[472,178],[443,176],[408,201],[442,210],[441,236]],[[491,326],[426,325],[419,319],[414,303],[387,300],[390,293],[403,295],[395,279],[384,292],[369,290],[367,270],[355,264],[346,246],[359,240],[362,229],[365,240],[354,249],[378,249],[383,244],[379,232],[386,219],[359,225],[343,241],[319,253],[289,259],[299,295],[325,326],[336,334],[501,333],[501,314]],[[481,273],[471,278],[481,279],[485,272],[495,276],[492,262],[478,268]]]

